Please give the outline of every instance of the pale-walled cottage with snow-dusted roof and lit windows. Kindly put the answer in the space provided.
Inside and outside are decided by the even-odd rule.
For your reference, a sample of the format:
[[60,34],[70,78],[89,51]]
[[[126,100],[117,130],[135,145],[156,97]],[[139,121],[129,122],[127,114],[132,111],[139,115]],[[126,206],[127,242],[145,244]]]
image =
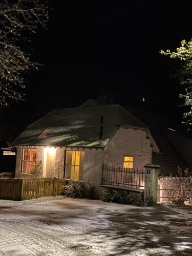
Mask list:
[[143,168],[159,148],[150,129],[110,95],[77,108],[56,109],[20,134],[15,177],[89,182],[99,193],[103,164]]

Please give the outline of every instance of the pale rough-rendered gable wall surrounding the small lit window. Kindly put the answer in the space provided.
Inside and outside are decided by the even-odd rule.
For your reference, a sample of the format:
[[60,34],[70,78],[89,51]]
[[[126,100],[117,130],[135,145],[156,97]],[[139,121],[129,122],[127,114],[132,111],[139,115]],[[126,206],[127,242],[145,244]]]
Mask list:
[[134,157],[134,168],[152,162],[151,140],[145,130],[119,127],[103,150],[103,164],[123,166],[124,156]]

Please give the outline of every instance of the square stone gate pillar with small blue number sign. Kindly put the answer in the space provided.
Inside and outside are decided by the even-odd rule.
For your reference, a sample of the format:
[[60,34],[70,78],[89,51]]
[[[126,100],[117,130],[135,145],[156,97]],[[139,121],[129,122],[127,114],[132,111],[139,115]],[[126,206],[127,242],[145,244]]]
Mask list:
[[157,184],[160,166],[158,164],[146,164],[145,166],[145,199],[152,198],[152,203],[157,203]]

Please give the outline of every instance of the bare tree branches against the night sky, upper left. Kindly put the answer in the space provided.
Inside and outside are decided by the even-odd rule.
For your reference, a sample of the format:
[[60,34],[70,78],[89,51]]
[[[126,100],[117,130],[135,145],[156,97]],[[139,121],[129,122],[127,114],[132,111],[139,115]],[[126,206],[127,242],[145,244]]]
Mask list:
[[24,99],[24,74],[38,69],[23,49],[30,34],[46,28],[48,4],[45,0],[0,0],[0,106],[8,100]]

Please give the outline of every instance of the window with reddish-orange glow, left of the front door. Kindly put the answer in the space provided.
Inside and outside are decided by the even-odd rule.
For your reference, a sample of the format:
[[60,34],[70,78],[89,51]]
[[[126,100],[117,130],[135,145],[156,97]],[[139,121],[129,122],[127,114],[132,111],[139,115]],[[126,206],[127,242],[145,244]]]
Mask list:
[[29,174],[35,168],[36,155],[35,148],[23,148],[22,173]]

